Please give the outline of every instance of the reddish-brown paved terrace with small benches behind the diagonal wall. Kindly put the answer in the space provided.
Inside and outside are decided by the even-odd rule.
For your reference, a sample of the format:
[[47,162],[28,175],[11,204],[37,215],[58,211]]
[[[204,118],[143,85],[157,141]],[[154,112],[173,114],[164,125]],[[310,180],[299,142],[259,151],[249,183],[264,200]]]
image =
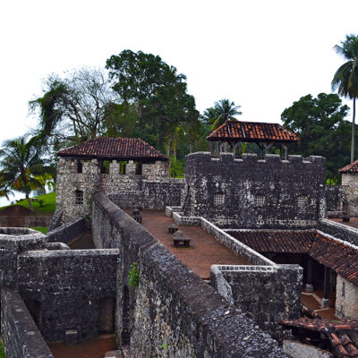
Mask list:
[[[132,209],[124,209],[124,211],[132,217]],[[247,260],[227,249],[213,235],[208,234],[199,226],[180,226],[179,229],[192,239],[191,246],[175,247],[172,234],[169,234],[167,229],[175,222],[171,217],[166,216],[164,210],[144,209],[141,211],[141,216],[142,226],[202,279],[210,278],[210,266],[214,264],[250,265]]]

